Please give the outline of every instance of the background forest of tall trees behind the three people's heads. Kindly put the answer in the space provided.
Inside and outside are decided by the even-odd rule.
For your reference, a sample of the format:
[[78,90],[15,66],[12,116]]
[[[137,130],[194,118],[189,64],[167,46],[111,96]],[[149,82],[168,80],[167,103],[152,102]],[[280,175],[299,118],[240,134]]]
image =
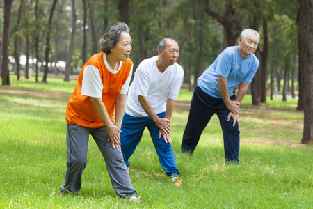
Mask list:
[[[4,2],[0,0],[0,22],[4,23],[0,24],[0,31],[3,31],[0,35],[0,58],[9,59],[0,59],[0,66],[4,66],[0,67],[3,85],[10,84],[8,71],[14,72],[17,79],[22,75],[26,78],[33,75],[36,82],[46,83],[48,76],[58,75],[70,81],[70,75],[78,75],[83,63],[91,55],[100,52],[98,40],[104,31],[116,22],[125,22],[131,28],[134,69],[143,59],[157,55],[159,40],[170,36],[179,43],[177,62],[185,71],[184,86],[193,90],[198,77],[216,56],[225,47],[237,45],[241,31],[251,28],[261,35],[255,53],[260,66],[248,90],[252,95],[252,104],[259,106],[266,103],[266,95],[270,95],[271,100],[282,96],[282,101],[286,101],[289,95],[299,98],[298,110],[304,109],[299,65],[299,27],[301,24],[306,25],[306,22],[308,30],[312,26],[310,1]],[[303,5],[303,13],[300,13],[299,5]],[[303,14],[306,22],[300,22],[300,14]],[[302,34],[303,37],[312,36]],[[303,38],[307,41],[309,39]],[[310,55],[304,56],[310,59]],[[38,81],[38,75],[42,75],[42,80]],[[310,84],[310,80],[308,82]],[[312,102],[311,97],[308,102]],[[311,106],[307,104],[307,107]]]

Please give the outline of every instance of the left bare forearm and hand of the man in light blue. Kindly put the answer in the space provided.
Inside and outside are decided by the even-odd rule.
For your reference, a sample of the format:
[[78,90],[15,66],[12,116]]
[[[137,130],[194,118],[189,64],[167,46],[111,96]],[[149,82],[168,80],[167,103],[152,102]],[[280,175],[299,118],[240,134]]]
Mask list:
[[240,102],[230,100],[230,94],[228,93],[227,87],[227,78],[218,75],[218,88],[220,88],[220,95],[222,95],[227,109],[229,109],[233,114],[238,115]]

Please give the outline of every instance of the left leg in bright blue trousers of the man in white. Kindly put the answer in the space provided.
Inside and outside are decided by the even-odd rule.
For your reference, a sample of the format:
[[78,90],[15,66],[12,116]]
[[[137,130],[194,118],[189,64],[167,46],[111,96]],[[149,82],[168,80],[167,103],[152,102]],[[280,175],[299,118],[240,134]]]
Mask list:
[[129,157],[136,150],[136,146],[141,141],[143,136],[143,131],[147,125],[147,117],[134,117],[129,114],[124,114],[122,127],[120,132],[120,144],[122,148],[122,153],[124,161],[129,167]]

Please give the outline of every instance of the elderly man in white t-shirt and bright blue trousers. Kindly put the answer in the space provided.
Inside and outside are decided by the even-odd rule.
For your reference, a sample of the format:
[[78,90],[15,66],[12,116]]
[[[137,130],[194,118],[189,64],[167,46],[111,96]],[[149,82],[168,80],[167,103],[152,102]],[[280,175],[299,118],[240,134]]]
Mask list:
[[175,185],[182,181],[175,163],[170,138],[170,118],[179,94],[184,70],[176,63],[179,47],[172,38],[164,38],[158,47],[159,56],[143,60],[132,82],[125,105],[120,142],[124,161],[129,157],[148,128],[161,166]]

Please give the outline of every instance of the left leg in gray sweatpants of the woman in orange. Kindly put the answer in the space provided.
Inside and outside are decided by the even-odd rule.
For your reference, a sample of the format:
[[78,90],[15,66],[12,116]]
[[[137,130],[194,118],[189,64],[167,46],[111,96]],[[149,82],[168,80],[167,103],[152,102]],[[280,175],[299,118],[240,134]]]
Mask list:
[[88,138],[92,129],[76,124],[67,124],[66,131],[66,174],[62,192],[79,192],[81,175],[87,165]]

